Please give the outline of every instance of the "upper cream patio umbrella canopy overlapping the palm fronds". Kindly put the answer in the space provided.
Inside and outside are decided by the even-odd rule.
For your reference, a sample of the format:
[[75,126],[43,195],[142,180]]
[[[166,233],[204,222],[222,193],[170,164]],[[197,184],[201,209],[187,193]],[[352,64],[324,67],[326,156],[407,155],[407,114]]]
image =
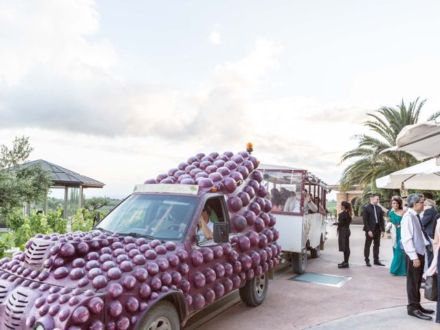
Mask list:
[[440,165],[440,124],[434,120],[405,126],[396,137],[396,145],[386,151],[406,151],[417,160],[437,157]]

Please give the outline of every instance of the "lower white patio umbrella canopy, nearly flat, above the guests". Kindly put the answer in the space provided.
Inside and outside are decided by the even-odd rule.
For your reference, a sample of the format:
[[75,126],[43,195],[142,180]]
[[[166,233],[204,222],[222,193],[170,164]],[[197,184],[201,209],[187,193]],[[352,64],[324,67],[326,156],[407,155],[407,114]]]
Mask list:
[[436,159],[413,165],[376,179],[377,188],[440,190],[440,166]]

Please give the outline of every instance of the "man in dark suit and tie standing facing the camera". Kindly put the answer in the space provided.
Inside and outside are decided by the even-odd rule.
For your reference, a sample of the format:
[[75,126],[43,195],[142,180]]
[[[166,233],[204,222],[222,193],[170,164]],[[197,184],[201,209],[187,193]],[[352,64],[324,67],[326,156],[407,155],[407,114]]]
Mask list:
[[379,261],[380,237],[385,233],[385,221],[382,214],[382,208],[378,206],[379,196],[373,194],[370,196],[370,203],[362,209],[362,219],[364,220],[365,246],[364,256],[365,263],[371,267],[370,263],[370,247],[373,242],[373,261],[375,265],[384,266]]

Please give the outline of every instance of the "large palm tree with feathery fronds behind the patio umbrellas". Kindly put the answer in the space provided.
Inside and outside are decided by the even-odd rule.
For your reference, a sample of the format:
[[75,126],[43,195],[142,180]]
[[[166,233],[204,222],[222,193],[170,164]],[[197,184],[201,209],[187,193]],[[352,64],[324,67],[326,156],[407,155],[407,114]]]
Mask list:
[[[345,168],[340,179],[340,189],[347,190],[349,186],[360,185],[365,190],[377,192],[375,179],[383,177],[396,170],[401,170],[417,163],[412,155],[405,152],[380,153],[386,148],[395,145],[397,134],[406,125],[416,124],[419,121],[421,107],[426,100],[417,98],[406,107],[404,100],[396,107],[381,107],[373,113],[367,113],[368,120],[364,126],[368,127],[372,135],[360,134],[354,138],[359,145],[342,155],[341,162],[355,159],[353,164]],[[428,120],[440,117],[440,111],[430,115]]]

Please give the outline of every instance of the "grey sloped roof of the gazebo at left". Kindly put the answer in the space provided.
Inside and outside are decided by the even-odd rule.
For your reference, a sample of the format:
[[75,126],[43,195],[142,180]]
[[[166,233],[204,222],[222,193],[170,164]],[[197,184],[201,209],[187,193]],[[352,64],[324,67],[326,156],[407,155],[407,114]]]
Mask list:
[[104,184],[85,175],[80,175],[73,170],[68,170],[43,159],[34,160],[21,166],[30,167],[39,164],[44,170],[50,170],[50,177],[54,186],[83,186],[83,188],[102,188]]

